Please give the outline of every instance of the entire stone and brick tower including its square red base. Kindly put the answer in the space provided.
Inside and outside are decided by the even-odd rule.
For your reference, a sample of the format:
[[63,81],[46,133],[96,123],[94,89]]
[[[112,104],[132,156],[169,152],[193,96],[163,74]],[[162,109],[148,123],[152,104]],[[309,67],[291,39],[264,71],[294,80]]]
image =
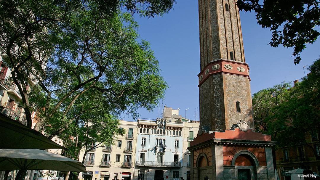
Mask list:
[[200,129],[191,180],[274,180],[269,135],[254,132],[249,67],[237,0],[199,0]]

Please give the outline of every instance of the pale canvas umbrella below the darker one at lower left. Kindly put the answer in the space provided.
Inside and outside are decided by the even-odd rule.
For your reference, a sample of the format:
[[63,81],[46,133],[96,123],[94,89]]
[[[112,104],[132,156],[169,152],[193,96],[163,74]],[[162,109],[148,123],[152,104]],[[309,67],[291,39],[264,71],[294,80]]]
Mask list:
[[86,172],[81,162],[47,151],[0,149],[0,171],[31,169]]

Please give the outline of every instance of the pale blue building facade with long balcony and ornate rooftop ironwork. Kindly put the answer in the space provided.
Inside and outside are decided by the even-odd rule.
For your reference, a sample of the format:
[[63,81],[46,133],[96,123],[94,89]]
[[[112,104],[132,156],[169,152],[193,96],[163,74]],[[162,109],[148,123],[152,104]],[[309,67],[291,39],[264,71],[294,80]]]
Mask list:
[[[135,177],[138,180],[178,180],[182,176],[183,124],[139,120]],[[147,130],[148,129],[148,130]]]

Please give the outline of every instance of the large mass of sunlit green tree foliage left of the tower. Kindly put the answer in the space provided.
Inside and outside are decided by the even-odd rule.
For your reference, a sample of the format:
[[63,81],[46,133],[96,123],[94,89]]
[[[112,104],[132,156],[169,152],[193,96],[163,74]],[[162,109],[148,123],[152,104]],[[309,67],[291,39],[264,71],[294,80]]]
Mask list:
[[[1,1],[0,44],[14,70],[31,126],[58,136],[77,158],[92,142],[114,140],[121,113],[152,110],[167,88],[158,61],[128,12],[154,17],[174,0]],[[25,82],[25,83],[20,83]],[[35,85],[31,92],[24,87]],[[97,146],[98,147],[98,146]]]

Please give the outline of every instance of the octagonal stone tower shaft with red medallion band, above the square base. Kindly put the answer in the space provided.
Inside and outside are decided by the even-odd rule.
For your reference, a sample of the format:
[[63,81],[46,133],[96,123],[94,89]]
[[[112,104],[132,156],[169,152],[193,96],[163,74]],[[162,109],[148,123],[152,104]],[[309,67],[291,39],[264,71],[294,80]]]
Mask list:
[[254,128],[249,67],[236,0],[199,0],[200,131]]

